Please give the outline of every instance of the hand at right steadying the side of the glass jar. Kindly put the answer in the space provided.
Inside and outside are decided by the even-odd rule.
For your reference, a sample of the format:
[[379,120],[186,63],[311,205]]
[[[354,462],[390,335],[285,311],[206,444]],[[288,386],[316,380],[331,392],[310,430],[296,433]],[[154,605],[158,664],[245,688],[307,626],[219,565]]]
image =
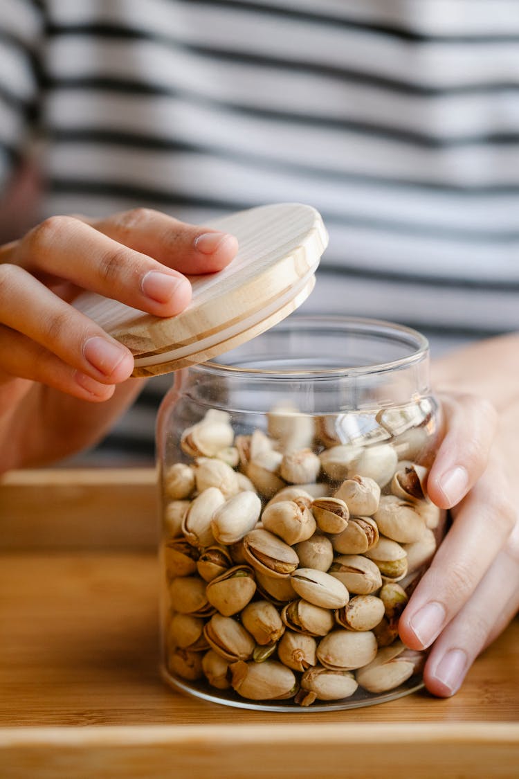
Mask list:
[[[448,370],[438,373],[448,385]],[[446,434],[427,489],[453,523],[399,623],[407,646],[432,647],[424,680],[441,697],[519,607],[519,397],[510,398],[498,415],[474,394],[442,397]]]

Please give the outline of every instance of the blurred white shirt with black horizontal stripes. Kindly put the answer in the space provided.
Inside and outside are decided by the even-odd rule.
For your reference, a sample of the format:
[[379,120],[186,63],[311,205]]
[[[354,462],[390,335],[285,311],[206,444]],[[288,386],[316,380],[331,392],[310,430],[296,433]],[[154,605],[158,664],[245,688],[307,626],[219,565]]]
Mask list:
[[517,0],[0,0],[0,58],[0,187],[37,136],[41,217],[310,203],[307,312],[519,330]]

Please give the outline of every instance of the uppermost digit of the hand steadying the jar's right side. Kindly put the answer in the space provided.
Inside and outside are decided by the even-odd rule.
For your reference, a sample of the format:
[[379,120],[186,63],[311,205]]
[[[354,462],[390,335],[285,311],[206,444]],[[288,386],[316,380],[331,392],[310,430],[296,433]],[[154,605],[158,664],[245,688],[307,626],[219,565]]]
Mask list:
[[448,395],[442,404],[447,434],[431,467],[427,493],[437,506],[451,509],[485,471],[497,414],[489,401],[475,395]]

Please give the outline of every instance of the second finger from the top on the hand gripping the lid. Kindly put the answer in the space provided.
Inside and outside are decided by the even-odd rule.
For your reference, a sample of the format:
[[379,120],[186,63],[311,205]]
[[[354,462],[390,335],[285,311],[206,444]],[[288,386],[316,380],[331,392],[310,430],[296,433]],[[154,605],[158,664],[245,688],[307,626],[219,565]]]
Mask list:
[[177,270],[71,217],[42,222],[3,259],[157,316],[174,316],[191,300],[191,284]]

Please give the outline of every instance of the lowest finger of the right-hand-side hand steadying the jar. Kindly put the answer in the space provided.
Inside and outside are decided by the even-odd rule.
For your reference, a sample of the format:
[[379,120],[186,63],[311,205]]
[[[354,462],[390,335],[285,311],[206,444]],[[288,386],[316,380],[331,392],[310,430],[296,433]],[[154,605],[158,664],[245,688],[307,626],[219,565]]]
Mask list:
[[434,644],[424,669],[427,689],[440,697],[454,695],[472,662],[507,626],[517,612],[517,606],[519,555],[511,555],[505,549],[470,601]]

